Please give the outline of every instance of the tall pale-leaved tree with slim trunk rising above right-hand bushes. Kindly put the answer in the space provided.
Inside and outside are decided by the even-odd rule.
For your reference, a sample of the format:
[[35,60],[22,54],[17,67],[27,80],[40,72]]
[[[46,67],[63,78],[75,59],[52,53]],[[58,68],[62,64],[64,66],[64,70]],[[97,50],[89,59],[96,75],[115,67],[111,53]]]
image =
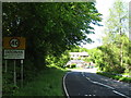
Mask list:
[[[106,22],[105,44],[110,44],[120,48],[120,65],[123,66],[123,45],[122,37],[128,32],[128,5],[121,0],[116,0],[114,8],[109,9],[109,17]],[[111,46],[111,47],[112,47]]]

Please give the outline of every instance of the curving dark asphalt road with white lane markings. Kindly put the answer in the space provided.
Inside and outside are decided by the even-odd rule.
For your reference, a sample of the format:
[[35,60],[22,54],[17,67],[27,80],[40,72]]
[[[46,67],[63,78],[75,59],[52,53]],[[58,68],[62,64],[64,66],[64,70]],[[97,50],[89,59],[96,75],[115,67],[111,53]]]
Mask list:
[[91,70],[74,70],[63,77],[63,87],[68,98],[97,97],[97,98],[130,98],[131,84],[118,82]]

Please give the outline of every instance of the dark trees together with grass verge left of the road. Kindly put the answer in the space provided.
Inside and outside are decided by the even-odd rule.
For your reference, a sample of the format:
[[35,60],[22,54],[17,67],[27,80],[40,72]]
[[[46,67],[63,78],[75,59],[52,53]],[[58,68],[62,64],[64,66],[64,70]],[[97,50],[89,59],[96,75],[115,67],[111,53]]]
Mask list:
[[[3,2],[2,9],[2,37],[25,37],[26,39],[24,87],[21,88],[20,84],[20,60],[16,60],[15,68],[16,86],[13,82],[13,60],[8,60],[7,71],[3,60],[3,96],[27,94],[61,96],[62,81],[60,82],[60,79],[64,72],[49,70],[49,68],[62,69],[69,61],[68,50],[81,42],[92,41],[86,37],[86,35],[94,33],[92,32],[94,27],[91,24],[100,26],[99,22],[102,21],[102,14],[95,8],[95,3]],[[39,91],[35,93],[36,90]]]

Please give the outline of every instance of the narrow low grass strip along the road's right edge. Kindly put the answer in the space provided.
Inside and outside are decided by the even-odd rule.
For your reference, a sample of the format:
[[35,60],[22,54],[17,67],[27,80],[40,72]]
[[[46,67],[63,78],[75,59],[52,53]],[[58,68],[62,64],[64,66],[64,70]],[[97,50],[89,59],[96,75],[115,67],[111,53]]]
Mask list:
[[131,77],[118,76],[118,75],[112,75],[112,74],[102,73],[102,72],[97,72],[97,74],[104,75],[120,82],[131,83]]

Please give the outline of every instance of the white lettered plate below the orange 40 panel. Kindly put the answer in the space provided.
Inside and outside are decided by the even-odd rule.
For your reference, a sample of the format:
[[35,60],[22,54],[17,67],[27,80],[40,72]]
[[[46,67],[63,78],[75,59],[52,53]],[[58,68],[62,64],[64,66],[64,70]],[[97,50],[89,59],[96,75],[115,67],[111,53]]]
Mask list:
[[24,59],[24,50],[7,49],[4,50],[4,59]]

